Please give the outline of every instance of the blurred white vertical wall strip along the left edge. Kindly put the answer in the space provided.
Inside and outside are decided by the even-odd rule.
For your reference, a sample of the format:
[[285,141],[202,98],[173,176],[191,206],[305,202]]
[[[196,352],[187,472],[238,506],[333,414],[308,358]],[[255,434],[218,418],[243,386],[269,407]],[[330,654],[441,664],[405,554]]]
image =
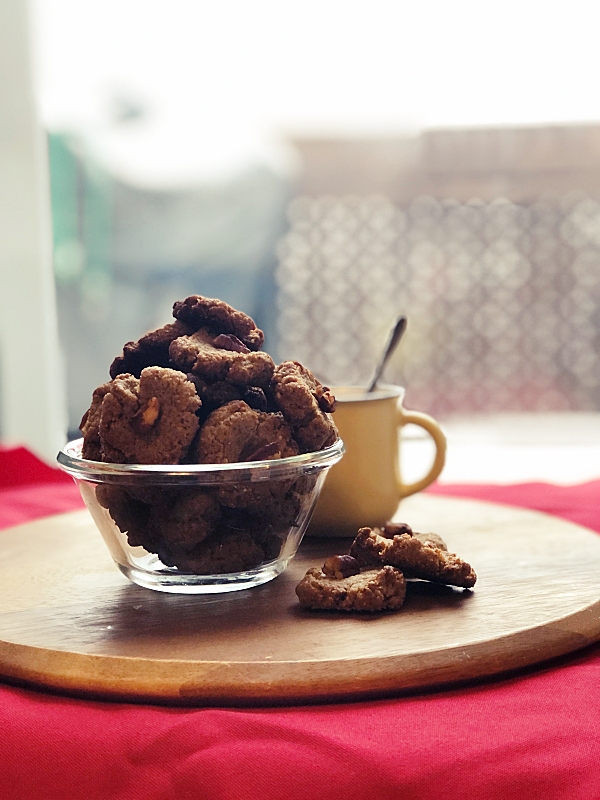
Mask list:
[[0,424],[3,444],[53,462],[66,437],[45,137],[28,7],[0,3]]

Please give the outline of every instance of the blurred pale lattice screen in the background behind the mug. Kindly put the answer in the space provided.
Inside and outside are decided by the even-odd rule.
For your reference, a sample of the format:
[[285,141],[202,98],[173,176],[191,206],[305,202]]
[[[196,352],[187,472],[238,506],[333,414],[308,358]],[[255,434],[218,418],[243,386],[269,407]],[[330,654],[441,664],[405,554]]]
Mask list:
[[280,356],[328,383],[386,379],[408,405],[600,409],[600,200],[517,205],[299,197],[279,253]]

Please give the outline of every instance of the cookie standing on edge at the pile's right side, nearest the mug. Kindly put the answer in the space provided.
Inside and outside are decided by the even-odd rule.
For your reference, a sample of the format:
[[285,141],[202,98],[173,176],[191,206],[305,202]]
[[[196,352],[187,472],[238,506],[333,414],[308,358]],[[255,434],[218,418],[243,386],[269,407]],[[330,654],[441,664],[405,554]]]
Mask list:
[[297,361],[284,361],[273,373],[271,391],[303,452],[322,450],[335,442],[337,430],[329,416],[335,398],[310,370]]

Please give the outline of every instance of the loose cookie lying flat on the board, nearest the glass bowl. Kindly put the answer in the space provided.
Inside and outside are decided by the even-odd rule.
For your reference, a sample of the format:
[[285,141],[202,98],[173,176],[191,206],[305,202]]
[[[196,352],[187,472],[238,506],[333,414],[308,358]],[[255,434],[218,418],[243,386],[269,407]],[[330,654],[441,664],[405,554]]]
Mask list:
[[404,602],[406,582],[399,570],[389,566],[341,578],[329,577],[324,569],[314,567],[296,586],[296,594],[304,608],[394,611]]

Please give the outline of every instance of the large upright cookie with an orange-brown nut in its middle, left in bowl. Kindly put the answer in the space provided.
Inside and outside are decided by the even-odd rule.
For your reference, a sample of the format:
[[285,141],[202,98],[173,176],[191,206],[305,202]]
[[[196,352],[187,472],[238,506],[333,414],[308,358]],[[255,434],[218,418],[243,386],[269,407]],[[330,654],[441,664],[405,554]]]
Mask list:
[[146,367],[140,379],[119,375],[100,414],[103,461],[177,464],[196,431],[200,399],[185,375]]

